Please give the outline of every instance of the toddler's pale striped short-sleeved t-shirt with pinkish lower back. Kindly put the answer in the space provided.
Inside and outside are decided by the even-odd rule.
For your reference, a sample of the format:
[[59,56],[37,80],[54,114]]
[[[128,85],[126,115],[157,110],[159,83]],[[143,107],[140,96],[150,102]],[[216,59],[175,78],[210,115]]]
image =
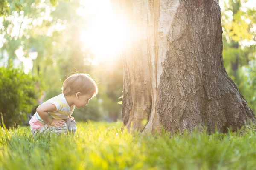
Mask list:
[[[44,103],[52,103],[56,106],[57,110],[53,112],[48,112],[49,116],[52,119],[67,119],[70,116],[75,106],[70,108],[67,103],[67,100],[64,97],[64,94],[60,94],[58,96],[53,97],[52,99],[47,100]],[[30,127],[33,129],[39,129],[40,127],[44,126],[46,122],[39,116],[37,112],[35,112],[34,116],[29,121]]]

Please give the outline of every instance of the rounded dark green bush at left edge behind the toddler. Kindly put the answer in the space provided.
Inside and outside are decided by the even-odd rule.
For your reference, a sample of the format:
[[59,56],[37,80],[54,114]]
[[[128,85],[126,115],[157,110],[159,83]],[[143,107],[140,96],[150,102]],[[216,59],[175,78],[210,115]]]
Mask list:
[[20,125],[37,103],[39,79],[12,65],[0,67],[0,77],[0,113],[6,127]]

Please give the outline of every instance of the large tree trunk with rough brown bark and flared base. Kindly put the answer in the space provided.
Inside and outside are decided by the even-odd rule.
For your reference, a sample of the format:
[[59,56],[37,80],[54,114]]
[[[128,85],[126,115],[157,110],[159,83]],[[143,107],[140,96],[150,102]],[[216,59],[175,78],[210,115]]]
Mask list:
[[126,127],[154,133],[161,125],[171,132],[216,126],[225,133],[255,121],[223,65],[217,0],[112,2],[141,35],[123,60]]

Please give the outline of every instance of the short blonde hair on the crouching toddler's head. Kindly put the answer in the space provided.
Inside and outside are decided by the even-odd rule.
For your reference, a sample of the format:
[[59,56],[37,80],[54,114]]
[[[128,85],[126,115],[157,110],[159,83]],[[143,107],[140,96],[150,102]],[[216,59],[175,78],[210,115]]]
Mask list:
[[98,87],[89,74],[76,73],[63,82],[62,93],[66,96],[75,95],[77,92],[92,94],[93,97],[98,94]]

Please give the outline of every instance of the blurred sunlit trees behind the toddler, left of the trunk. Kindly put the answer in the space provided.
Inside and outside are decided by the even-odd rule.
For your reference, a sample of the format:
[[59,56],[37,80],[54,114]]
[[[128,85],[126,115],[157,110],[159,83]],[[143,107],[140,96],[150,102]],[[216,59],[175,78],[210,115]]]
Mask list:
[[[84,11],[86,8],[86,4],[80,4],[79,0],[61,0],[56,7],[44,0],[20,0],[20,9],[17,9],[17,2],[10,2],[10,15],[0,18],[0,67],[8,67],[11,59],[10,69],[22,69],[25,74],[40,79],[38,84],[41,91],[34,96],[38,100],[37,104],[33,103],[34,107],[42,100],[46,101],[60,94],[62,82],[68,75],[73,72],[87,73],[97,82],[99,94],[90,100],[87,107],[76,109],[73,116],[79,121],[91,119],[111,122],[120,119],[122,105],[117,102],[122,96],[122,59],[113,56],[108,57],[108,61],[95,60],[96,56],[90,46],[83,42],[86,37],[81,37],[81,31],[88,29],[87,23],[90,23],[89,19],[96,17],[95,14],[79,14],[79,10]],[[104,28],[101,29],[104,32]],[[95,40],[102,43],[97,37]],[[33,51],[37,53],[37,57],[31,56]],[[3,69],[1,71],[6,74]],[[19,77],[13,76],[13,79]],[[31,81],[31,86],[33,84],[35,82]],[[20,86],[17,83],[12,88]],[[4,89],[1,86],[0,92],[6,93],[6,96],[15,95],[10,92],[14,89]],[[1,98],[0,102],[3,105],[15,102],[7,100],[8,98]],[[26,104],[31,108],[31,103]],[[6,109],[0,108],[0,112],[6,112]],[[18,112],[30,114],[28,111],[23,113],[22,110]]]

